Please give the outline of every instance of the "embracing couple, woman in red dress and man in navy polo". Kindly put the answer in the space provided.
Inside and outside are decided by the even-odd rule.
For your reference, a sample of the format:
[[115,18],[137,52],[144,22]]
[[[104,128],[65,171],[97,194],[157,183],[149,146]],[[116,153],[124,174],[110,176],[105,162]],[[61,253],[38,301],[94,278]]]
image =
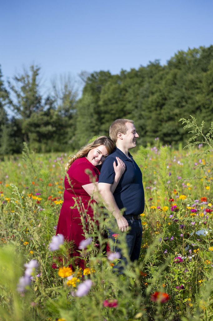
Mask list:
[[[84,239],[79,208],[85,209],[94,220],[91,203],[99,202],[101,196],[104,206],[115,218],[114,227],[117,224],[121,232],[128,231],[129,256],[135,261],[139,258],[142,240],[140,214],[144,211],[144,188],[141,171],[129,150],[136,147],[139,136],[129,119],[116,119],[109,135],[110,138],[101,136],[87,144],[66,164],[64,203],[56,235],[63,234],[68,241],[74,241],[71,255],[79,256],[79,243]],[[76,201],[79,206],[73,207]],[[113,227],[107,230],[108,238],[115,233]],[[115,251],[120,249],[115,247]],[[78,258],[77,265],[84,268],[85,261]]]

